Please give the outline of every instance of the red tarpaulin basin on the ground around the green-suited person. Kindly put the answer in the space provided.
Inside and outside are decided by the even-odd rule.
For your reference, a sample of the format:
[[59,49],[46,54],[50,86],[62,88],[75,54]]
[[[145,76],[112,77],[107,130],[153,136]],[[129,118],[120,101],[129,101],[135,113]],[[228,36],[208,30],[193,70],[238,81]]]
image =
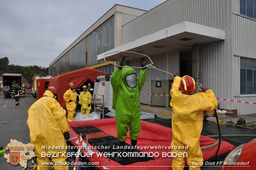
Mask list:
[[[171,123],[171,122],[170,122]],[[109,135],[117,137],[116,133],[116,119],[100,119],[100,120],[89,120],[89,121],[79,121],[79,122],[69,122],[70,127],[70,138],[77,137],[78,134],[72,129],[72,127],[82,127],[82,126],[95,126],[100,130],[106,132]],[[127,133],[126,143],[130,144],[130,132]],[[76,141],[78,139],[73,139],[70,142],[74,146],[78,146]],[[86,143],[85,139],[83,141]],[[149,123],[141,120],[141,131],[137,140],[138,146],[171,146],[172,141],[172,129],[156,123]],[[205,137],[201,135],[200,137],[200,146],[208,146],[216,142],[216,139]],[[90,144],[89,144],[90,146]],[[215,157],[218,146],[215,146],[211,149],[203,150],[204,161]],[[235,147],[225,141],[221,141],[220,150],[218,155],[231,151]],[[93,152],[99,152],[97,149],[91,149]],[[112,161],[107,157],[97,157],[96,154],[93,157],[87,157],[91,162],[100,162],[100,165],[97,168],[103,170],[104,168],[109,168],[111,170],[120,169],[120,170],[170,170],[172,165],[172,158],[162,157],[163,152],[171,152],[170,149],[139,149],[142,152],[159,152],[159,157],[153,157],[155,160],[150,160],[147,162],[137,162],[130,165],[121,165],[116,161]],[[81,150],[82,153],[86,153],[85,149]],[[187,165],[187,163],[186,163]]]

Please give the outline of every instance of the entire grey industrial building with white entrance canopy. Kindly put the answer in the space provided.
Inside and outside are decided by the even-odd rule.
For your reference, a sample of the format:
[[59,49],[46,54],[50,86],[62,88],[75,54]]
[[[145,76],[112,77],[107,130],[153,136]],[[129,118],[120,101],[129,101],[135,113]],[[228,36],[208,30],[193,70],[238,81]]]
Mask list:
[[[104,57],[118,62],[124,51],[190,75],[216,97],[256,102],[256,0],[167,0],[149,11],[115,5],[52,61],[49,72],[88,67],[111,73],[114,66]],[[140,57],[128,54],[128,65],[140,66]],[[168,107],[173,76],[147,70],[141,103]],[[255,104],[218,102],[238,115],[256,113]]]

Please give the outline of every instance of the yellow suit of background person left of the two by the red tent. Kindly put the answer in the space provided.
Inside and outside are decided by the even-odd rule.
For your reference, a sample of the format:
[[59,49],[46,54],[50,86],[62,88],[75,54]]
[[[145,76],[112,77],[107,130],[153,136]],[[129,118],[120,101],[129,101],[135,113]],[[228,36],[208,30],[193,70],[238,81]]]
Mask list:
[[[63,98],[66,102],[66,110],[68,111],[69,122],[73,122],[73,116],[76,112],[76,96],[77,93],[73,92],[70,88],[63,95]],[[69,100],[72,100],[73,102],[69,102]]]

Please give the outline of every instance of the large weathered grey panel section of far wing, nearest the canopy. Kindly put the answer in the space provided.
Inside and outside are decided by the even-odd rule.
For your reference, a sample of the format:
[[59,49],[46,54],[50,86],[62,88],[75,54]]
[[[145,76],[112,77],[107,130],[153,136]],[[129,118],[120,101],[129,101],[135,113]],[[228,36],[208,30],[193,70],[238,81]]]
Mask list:
[[114,17],[109,18],[87,37],[88,66],[95,65],[97,55],[114,48]]

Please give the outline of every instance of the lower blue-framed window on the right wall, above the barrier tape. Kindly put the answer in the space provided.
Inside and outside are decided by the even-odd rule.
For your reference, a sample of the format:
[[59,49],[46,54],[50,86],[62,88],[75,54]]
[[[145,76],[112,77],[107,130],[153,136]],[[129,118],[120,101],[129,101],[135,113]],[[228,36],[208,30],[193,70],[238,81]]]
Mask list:
[[256,94],[256,59],[240,58],[240,94]]

